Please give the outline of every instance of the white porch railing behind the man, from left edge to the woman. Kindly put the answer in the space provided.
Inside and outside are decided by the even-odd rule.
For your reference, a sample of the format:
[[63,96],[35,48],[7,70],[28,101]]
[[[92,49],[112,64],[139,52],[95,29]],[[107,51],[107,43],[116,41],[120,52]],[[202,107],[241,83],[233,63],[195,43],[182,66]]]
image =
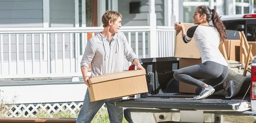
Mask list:
[[[0,78],[81,76],[80,62],[89,36],[102,27],[0,29]],[[139,58],[149,58],[150,28],[122,27]],[[173,56],[174,28],[157,27],[159,57]]]

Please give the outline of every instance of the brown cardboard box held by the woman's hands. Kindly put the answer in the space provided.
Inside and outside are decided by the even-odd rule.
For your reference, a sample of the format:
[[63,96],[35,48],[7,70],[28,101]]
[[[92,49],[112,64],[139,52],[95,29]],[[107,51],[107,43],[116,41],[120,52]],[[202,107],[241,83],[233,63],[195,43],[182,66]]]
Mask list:
[[[187,32],[188,28],[196,26],[193,23],[183,23]],[[184,43],[182,39],[182,31],[175,37],[175,51],[174,57],[176,58],[201,58],[200,53],[195,45],[195,39],[192,38],[189,43]]]

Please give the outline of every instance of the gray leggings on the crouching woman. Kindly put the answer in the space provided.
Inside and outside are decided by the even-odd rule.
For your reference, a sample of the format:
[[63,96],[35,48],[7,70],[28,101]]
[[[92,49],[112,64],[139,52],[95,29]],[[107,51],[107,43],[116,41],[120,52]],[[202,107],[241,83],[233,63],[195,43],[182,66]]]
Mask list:
[[[220,84],[228,76],[228,67],[217,62],[206,61],[202,64],[191,65],[181,68],[173,73],[173,77],[178,81],[203,87],[204,84],[215,86],[215,92],[223,89]],[[198,79],[204,79],[203,81]]]

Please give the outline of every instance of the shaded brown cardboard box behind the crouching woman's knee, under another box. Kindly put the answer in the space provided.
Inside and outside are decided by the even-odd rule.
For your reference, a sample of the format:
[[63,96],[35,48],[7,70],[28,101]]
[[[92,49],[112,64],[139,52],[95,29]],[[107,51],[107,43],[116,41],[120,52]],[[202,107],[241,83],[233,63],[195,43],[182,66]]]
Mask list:
[[[190,65],[201,64],[201,59],[180,59],[179,60],[179,68],[185,68]],[[183,83],[179,81],[179,92],[180,93],[195,93],[196,86]]]

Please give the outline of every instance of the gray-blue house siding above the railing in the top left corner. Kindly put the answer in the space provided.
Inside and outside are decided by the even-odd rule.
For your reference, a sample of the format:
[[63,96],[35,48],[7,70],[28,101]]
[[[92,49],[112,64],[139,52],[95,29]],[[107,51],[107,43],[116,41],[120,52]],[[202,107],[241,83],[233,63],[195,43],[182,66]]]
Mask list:
[[43,27],[43,0],[0,0],[0,27]]

